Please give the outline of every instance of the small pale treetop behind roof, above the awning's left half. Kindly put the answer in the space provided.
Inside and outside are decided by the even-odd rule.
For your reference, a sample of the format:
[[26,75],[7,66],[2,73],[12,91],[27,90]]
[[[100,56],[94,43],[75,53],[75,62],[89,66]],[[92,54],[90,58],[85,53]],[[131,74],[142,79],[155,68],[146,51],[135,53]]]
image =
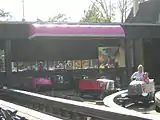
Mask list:
[[59,13],[54,17],[49,17],[48,22],[67,22],[69,19],[70,17],[67,17],[66,14]]

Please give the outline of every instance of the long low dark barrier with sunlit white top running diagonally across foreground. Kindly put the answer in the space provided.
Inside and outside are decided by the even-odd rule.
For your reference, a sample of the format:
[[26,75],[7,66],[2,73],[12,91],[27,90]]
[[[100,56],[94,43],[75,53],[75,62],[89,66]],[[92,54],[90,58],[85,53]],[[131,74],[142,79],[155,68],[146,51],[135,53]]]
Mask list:
[[56,97],[44,96],[36,93],[2,89],[0,97],[12,100],[21,105],[27,105],[36,110],[52,114],[55,117],[70,120],[152,120],[153,116],[135,114],[134,111],[121,111],[114,108],[87,104]]

